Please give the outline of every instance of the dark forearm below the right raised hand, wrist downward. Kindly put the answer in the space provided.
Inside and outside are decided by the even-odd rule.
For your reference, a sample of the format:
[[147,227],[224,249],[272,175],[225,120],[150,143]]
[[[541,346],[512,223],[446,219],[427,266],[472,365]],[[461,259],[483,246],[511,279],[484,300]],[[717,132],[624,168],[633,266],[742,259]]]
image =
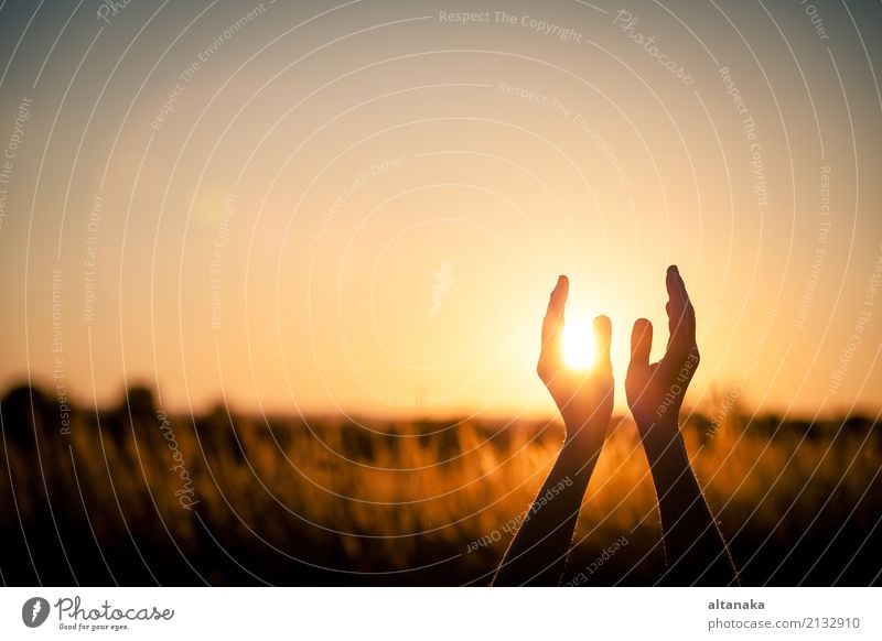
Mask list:
[[735,583],[736,572],[689,464],[676,421],[641,432],[658,496],[669,580]]

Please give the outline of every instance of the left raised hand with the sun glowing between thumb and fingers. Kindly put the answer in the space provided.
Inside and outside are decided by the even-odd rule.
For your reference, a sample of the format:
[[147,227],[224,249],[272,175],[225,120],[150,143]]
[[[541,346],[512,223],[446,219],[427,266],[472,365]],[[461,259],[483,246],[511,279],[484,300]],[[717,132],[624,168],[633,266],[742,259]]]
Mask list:
[[563,416],[567,442],[577,441],[600,449],[613,412],[612,325],[606,316],[594,318],[598,358],[593,367],[585,370],[567,367],[563,363],[563,307],[569,290],[567,276],[560,276],[542,320],[542,347],[536,371]]

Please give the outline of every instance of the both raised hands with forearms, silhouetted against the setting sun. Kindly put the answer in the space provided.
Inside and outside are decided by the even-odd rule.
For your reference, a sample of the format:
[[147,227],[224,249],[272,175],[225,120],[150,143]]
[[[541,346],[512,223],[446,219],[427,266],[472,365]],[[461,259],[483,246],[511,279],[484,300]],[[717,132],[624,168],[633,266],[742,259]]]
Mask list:
[[[653,325],[634,323],[625,378],[628,408],[639,431],[662,517],[667,571],[659,582],[729,585],[736,572],[701,495],[679,431],[678,415],[699,363],[696,314],[675,265],[666,275],[669,338],[665,356],[649,362]],[[560,276],[542,322],[537,371],[566,427],[563,447],[505,555],[495,585],[557,585],[563,574],[579,509],[613,411],[612,325],[594,319],[596,361],[585,370],[563,362],[563,311],[569,294]],[[549,491],[551,492],[549,495]],[[552,500],[541,500],[553,496]],[[605,543],[600,542],[599,547]]]

